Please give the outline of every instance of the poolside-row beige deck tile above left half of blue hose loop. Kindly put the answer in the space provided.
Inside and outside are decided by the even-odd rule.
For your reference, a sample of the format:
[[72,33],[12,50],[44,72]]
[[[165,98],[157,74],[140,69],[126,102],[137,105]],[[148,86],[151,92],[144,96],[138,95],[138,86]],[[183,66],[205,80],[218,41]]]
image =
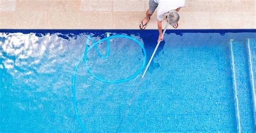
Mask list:
[[80,28],[112,29],[112,12],[80,12]]

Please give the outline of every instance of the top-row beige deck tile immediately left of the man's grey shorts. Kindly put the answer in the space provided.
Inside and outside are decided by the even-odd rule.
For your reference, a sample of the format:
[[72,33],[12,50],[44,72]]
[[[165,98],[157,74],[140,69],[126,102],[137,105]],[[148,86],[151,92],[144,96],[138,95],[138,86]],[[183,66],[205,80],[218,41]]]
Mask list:
[[145,11],[145,0],[113,0],[113,11]]

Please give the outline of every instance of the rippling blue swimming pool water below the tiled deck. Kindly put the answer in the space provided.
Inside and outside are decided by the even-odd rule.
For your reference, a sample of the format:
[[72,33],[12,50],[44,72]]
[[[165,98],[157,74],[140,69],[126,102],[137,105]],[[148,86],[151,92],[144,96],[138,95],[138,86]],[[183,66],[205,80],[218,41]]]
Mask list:
[[157,44],[157,30],[0,30],[0,131],[82,132],[76,66],[84,131],[255,131],[255,29],[167,30],[126,115],[143,71],[105,83],[84,58],[77,65],[89,35],[97,42],[106,32],[146,53],[127,38],[91,48],[87,68],[105,80],[132,76]]

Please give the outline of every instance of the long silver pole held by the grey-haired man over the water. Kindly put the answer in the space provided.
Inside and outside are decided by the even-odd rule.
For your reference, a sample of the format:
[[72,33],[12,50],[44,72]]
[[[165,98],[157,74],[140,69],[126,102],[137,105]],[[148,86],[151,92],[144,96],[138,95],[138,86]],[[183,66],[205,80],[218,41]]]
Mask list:
[[[165,34],[165,31],[166,31],[166,29],[167,29],[168,26],[169,26],[169,23],[166,24],[165,29],[164,29],[164,32],[163,32],[163,35]],[[134,91],[134,94],[132,95],[132,98],[131,98],[131,100],[129,101],[129,106],[132,104],[132,101],[133,101],[133,99],[135,98],[135,96],[136,96],[136,94],[137,94],[139,85],[140,85],[140,83],[142,83],[142,80],[143,80],[143,78],[145,77],[145,74],[146,74],[146,72],[147,72],[147,69],[149,69],[149,67],[150,67],[150,64],[151,64],[151,62],[152,62],[152,60],[153,60],[154,54],[156,54],[156,51],[157,51],[158,46],[160,45],[160,42],[161,42],[161,41],[159,41],[159,42],[157,43],[156,48],[154,48],[154,52],[153,52],[153,54],[152,54],[152,56],[151,56],[151,58],[150,58],[149,63],[147,63],[147,67],[146,67],[146,69],[145,69],[145,71],[144,71],[144,73],[143,73],[143,75],[142,75],[142,78],[140,79],[139,84],[137,85],[136,90]]]

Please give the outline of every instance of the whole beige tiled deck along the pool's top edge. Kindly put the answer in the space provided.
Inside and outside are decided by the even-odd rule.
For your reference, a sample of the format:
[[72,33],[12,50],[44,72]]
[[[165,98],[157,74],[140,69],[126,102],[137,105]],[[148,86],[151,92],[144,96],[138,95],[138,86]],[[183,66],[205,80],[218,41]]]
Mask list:
[[[0,28],[138,29],[149,0],[0,0]],[[256,28],[255,0],[186,0],[179,29]],[[156,12],[147,29],[157,28]]]

